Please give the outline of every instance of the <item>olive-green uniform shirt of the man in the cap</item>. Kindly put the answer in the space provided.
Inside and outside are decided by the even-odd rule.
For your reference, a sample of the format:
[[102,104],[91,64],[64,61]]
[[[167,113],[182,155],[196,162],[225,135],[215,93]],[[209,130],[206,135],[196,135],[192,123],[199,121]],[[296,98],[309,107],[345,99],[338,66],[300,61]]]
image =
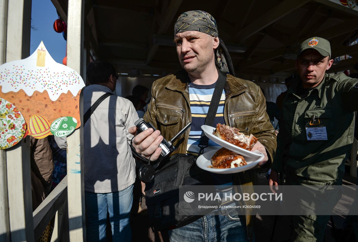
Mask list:
[[[280,132],[272,169],[319,182],[342,179],[352,149],[354,112],[358,110],[358,79],[343,73],[325,74],[323,81],[303,89],[292,83],[282,106]],[[315,115],[326,127],[328,140],[307,140],[305,124]]]

